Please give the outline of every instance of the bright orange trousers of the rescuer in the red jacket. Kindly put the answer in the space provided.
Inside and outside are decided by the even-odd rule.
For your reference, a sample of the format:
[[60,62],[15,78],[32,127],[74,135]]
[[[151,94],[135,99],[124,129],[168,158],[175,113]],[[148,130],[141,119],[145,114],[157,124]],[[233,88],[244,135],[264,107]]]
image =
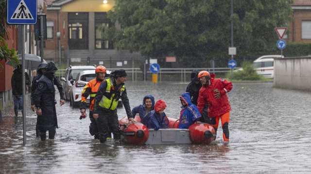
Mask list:
[[[222,121],[222,128],[223,128],[223,139],[225,142],[229,142],[229,119],[230,119],[230,112],[227,112],[221,116],[215,116],[211,119],[211,125],[214,127],[215,131],[217,132],[219,118]],[[215,124],[214,124],[215,123]]]

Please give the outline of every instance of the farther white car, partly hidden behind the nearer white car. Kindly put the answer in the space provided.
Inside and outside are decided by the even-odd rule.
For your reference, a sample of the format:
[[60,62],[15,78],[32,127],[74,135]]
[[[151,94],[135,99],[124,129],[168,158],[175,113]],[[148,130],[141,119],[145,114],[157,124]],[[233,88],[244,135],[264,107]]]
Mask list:
[[70,101],[69,90],[74,84],[75,79],[77,78],[78,73],[85,71],[85,70],[95,70],[94,66],[69,66],[66,69],[65,76],[61,78],[63,81],[63,90],[65,94],[65,99]]

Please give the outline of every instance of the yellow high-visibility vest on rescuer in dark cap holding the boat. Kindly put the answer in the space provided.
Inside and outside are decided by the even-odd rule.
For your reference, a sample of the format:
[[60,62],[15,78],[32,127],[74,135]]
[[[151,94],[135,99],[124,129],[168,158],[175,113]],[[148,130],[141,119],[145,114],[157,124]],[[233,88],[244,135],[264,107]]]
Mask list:
[[[124,85],[122,85],[122,87],[119,89],[119,91],[117,93],[119,93],[120,95],[116,97],[116,93],[113,92],[111,94],[111,90],[114,88],[113,87],[113,84],[110,80],[110,78],[104,80],[107,82],[107,87],[106,87],[106,90],[105,90],[105,93],[103,95],[103,98],[101,100],[101,102],[99,102],[99,105],[103,108],[106,108],[106,109],[110,109],[110,110],[115,110],[118,106],[118,100],[119,98],[121,97],[123,91],[125,90],[125,87]],[[105,94],[111,94],[111,95],[107,95],[107,96],[110,96],[110,98],[107,98],[105,96]]]

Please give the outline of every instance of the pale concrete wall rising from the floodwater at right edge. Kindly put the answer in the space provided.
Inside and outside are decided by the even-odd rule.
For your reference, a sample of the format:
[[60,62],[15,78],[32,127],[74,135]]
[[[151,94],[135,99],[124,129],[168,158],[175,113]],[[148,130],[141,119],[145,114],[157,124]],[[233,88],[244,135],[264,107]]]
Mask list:
[[274,87],[311,91],[311,57],[275,58]]

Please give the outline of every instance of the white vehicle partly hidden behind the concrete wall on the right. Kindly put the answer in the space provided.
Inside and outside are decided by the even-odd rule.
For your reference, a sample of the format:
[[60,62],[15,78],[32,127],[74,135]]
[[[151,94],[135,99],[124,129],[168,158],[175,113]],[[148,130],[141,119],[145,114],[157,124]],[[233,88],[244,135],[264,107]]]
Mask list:
[[284,58],[284,56],[281,55],[267,55],[267,56],[261,56],[254,60],[253,65],[256,69],[258,74],[263,75],[267,78],[273,78],[274,77],[274,58]]

